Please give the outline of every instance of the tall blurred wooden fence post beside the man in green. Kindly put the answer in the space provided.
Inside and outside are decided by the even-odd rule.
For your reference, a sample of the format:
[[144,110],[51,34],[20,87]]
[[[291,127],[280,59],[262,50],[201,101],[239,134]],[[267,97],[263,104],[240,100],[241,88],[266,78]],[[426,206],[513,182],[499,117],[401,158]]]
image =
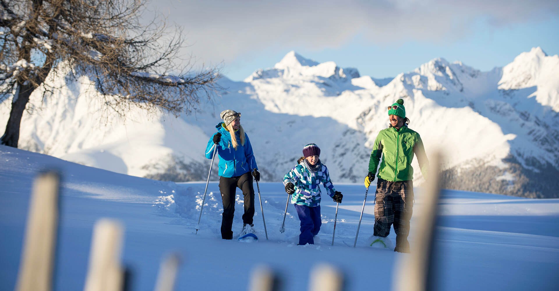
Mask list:
[[435,152],[431,160],[429,178],[421,194],[421,207],[415,222],[411,254],[403,255],[395,265],[393,286],[397,291],[423,291],[436,289],[433,280],[435,222],[440,197],[441,153]]

